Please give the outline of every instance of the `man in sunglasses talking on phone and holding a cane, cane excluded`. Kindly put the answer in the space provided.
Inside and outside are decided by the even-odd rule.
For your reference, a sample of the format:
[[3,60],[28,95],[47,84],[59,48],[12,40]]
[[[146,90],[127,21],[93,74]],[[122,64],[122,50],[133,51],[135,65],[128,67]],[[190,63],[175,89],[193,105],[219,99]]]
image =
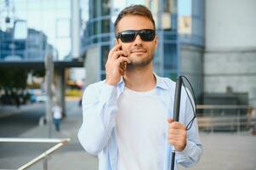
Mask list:
[[[82,99],[78,138],[98,155],[100,170],[168,170],[172,147],[175,164],[195,165],[202,155],[193,109],[181,93],[179,122],[173,122],[175,82],[153,72],[157,45],[151,11],[124,8],[115,22],[117,45],[105,64],[106,79],[88,86]],[[175,166],[176,167],[176,166]]]

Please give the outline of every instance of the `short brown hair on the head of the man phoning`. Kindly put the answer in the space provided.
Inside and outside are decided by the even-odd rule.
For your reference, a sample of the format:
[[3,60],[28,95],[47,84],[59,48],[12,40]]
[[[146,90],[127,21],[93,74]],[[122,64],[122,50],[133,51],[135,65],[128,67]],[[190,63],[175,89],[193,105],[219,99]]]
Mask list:
[[144,5],[131,5],[127,8],[123,8],[122,11],[117,15],[117,20],[115,21],[115,29],[117,31],[117,24],[118,22],[127,15],[139,15],[139,16],[145,16],[148,19],[151,20],[154,29],[156,29],[155,20],[153,19],[153,16],[151,14],[151,10],[149,8],[146,8]]

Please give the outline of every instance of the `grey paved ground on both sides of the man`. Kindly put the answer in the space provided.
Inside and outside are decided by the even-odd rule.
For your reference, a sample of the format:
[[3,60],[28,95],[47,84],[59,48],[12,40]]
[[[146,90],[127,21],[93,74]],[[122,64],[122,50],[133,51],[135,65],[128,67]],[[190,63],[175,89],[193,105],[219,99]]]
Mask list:
[[[96,156],[86,153],[77,139],[77,131],[82,123],[82,110],[77,105],[67,105],[67,117],[61,123],[60,133],[53,133],[54,138],[70,138],[71,142],[62,146],[48,158],[48,169],[54,170],[96,170]],[[48,126],[35,127],[20,135],[22,138],[47,138]],[[247,133],[201,133],[204,153],[196,167],[192,170],[255,170],[256,169],[256,137]],[[2,162],[19,167],[36,157],[50,145],[40,144],[20,147],[15,156],[6,156]],[[34,151],[37,150],[37,151]],[[25,153],[24,153],[25,152]],[[22,154],[24,153],[24,154]],[[8,155],[8,154],[7,154]],[[0,167],[1,168],[1,167]],[[43,169],[39,162],[30,169]],[[185,169],[179,167],[180,170]]]

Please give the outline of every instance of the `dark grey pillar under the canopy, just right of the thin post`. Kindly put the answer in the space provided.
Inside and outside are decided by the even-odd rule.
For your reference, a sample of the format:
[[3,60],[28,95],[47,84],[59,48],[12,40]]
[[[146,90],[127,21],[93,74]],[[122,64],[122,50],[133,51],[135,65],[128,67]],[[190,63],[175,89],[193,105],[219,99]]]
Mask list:
[[63,116],[65,116],[65,69],[57,68],[55,70],[56,76],[56,98],[58,104],[63,111]]

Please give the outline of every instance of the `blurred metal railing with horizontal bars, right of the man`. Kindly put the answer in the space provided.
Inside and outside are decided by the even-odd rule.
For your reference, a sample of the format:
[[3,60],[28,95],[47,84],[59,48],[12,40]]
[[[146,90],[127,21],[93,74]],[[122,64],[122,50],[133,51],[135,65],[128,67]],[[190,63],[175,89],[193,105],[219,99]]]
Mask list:
[[[201,130],[230,130],[240,133],[247,127],[250,105],[196,105],[198,127]],[[201,112],[200,112],[201,111]]]

